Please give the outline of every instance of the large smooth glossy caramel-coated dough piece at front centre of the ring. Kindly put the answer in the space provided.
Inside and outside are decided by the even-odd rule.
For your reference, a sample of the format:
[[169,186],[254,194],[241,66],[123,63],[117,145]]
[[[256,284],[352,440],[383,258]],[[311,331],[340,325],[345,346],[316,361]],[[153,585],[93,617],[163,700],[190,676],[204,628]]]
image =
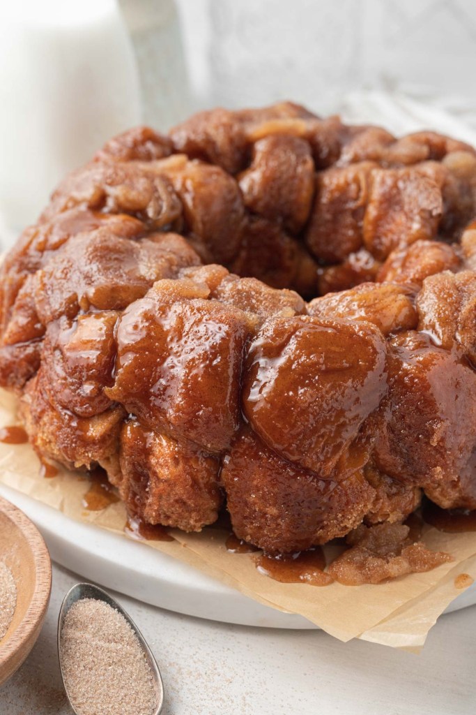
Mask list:
[[326,478],[385,395],[385,358],[368,322],[268,320],[248,350],[245,417],[270,448]]

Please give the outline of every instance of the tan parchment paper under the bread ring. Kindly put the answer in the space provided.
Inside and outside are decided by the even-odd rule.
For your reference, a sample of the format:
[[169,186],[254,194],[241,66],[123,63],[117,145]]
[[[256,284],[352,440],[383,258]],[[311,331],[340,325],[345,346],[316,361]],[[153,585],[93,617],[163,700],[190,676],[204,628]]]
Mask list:
[[[16,399],[0,390],[0,427],[14,425]],[[40,475],[40,462],[27,444],[0,443],[0,482],[62,511],[128,538],[126,511],[114,503],[103,511],[86,511],[87,478],[60,468],[54,478]],[[198,568],[266,606],[300,613],[324,631],[349,641],[418,650],[440,613],[464,589],[455,586],[461,573],[476,578],[476,533],[445,534],[425,526],[422,541],[435,551],[447,551],[454,561],[428,573],[415,573],[378,586],[309,586],[278,583],[255,568],[255,554],[226,551],[228,531],[206,528],[198,534],[172,530],[175,541],[148,541],[151,548]],[[468,584],[470,579],[467,579]]]

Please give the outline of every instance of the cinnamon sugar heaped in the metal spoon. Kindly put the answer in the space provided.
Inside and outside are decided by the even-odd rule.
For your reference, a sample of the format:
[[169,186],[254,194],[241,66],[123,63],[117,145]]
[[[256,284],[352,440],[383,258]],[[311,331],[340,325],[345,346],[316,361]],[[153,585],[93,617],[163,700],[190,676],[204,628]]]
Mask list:
[[125,618],[104,601],[83,598],[64,618],[64,684],[79,715],[151,715],[156,691],[141,645]]

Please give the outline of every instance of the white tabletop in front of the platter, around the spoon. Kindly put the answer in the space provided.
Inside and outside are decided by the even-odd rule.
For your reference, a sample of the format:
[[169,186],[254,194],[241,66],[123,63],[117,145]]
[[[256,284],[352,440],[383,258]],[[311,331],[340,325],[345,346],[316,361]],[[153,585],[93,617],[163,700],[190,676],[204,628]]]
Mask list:
[[[0,688],[0,715],[66,715],[56,655],[64,593],[80,579],[54,566],[51,603],[24,666]],[[476,706],[476,606],[442,616],[420,656],[322,631],[202,621],[126,596],[156,656],[164,715],[470,715]]]

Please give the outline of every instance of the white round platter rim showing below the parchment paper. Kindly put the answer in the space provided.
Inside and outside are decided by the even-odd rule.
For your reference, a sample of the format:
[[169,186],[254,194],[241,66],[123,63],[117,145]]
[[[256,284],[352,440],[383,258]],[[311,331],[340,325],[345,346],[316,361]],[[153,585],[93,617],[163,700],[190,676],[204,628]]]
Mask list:
[[[139,601],[188,616],[242,626],[318,628],[295,613],[263,606],[146,544],[124,539],[0,485],[0,495],[26,513],[41,531],[51,558],[88,581]],[[476,603],[476,584],[450,603],[445,613]]]

